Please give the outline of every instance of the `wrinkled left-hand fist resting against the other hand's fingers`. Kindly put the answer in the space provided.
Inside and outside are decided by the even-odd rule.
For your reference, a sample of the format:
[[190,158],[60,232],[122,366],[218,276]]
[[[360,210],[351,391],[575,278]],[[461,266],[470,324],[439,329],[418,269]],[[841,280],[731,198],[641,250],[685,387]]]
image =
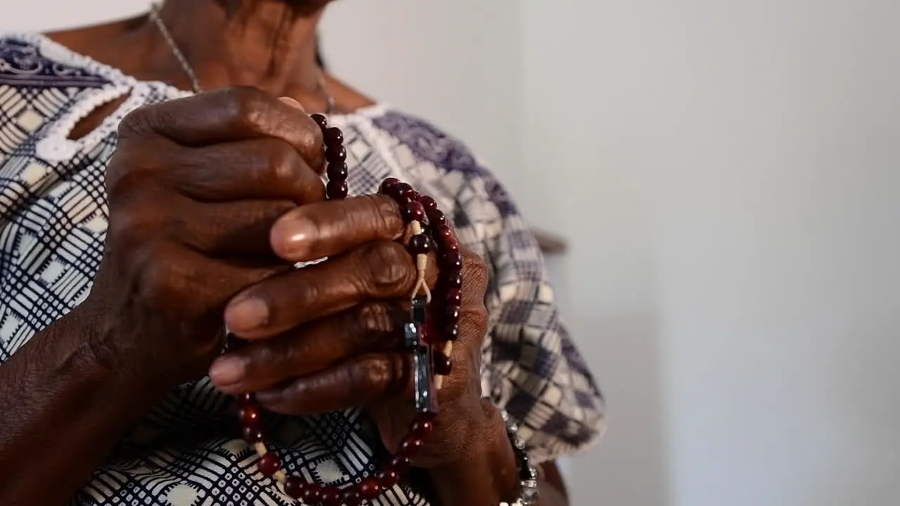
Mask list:
[[290,268],[269,229],[324,199],[322,151],[307,114],[254,88],[130,113],[106,173],[103,262],[80,308],[97,361],[169,388],[205,375],[229,299]]

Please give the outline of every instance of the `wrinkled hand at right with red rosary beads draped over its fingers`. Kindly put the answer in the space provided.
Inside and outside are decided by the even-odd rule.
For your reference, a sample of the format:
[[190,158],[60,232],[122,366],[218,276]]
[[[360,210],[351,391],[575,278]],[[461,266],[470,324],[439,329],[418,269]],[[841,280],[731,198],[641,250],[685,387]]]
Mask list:
[[[414,414],[411,358],[402,349],[400,322],[417,273],[397,240],[404,231],[398,205],[383,195],[287,212],[272,229],[272,249],[292,262],[329,259],[269,277],[229,303],[229,330],[248,342],[216,360],[213,384],[225,393],[257,392],[266,409],[288,414],[365,407],[385,446],[396,449]],[[416,465],[463,455],[485,418],[479,378],[487,267],[470,251],[463,256],[453,370],[438,394],[436,430]],[[435,259],[428,265],[433,285]]]

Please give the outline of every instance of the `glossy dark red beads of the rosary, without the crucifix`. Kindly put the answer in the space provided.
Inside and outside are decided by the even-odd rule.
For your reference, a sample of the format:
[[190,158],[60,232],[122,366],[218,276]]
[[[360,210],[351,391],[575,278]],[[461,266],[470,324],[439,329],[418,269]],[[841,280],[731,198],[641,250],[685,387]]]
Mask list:
[[[321,114],[312,114],[312,120],[319,124],[322,131],[322,140],[325,144],[325,159],[327,162],[326,196],[329,200],[340,200],[347,197],[347,149],[344,148],[344,134],[335,127],[328,126],[328,120]],[[420,266],[419,258],[435,251],[440,260],[441,277],[439,284],[445,286],[446,310],[439,315],[438,321],[444,331],[440,332],[441,341],[452,341],[458,334],[458,321],[460,312],[459,290],[462,286],[462,257],[459,257],[458,243],[455,242],[453,232],[447,227],[446,217],[443,212],[437,210],[437,202],[428,195],[422,195],[412,189],[412,186],[401,183],[395,178],[385,179],[380,186],[380,192],[388,194],[401,206],[401,215],[407,223],[418,222],[414,230],[421,230],[410,239],[408,246],[413,257],[417,258],[417,267]],[[428,221],[428,225],[426,225]],[[428,237],[425,231],[434,230],[433,237]],[[445,230],[446,229],[446,230]],[[454,247],[455,245],[455,247]],[[444,259],[446,255],[456,253],[456,256]],[[443,255],[443,256],[441,256]],[[456,261],[456,258],[459,258]],[[424,264],[421,264],[424,265]],[[425,288],[428,289],[427,287]],[[415,294],[414,294],[415,295]],[[429,321],[425,321],[425,329],[420,331],[430,335],[431,344],[437,344],[434,331],[428,330]],[[451,343],[452,347],[452,343]],[[449,348],[442,351],[434,351],[432,357],[433,370],[438,375],[449,375],[451,370],[450,358],[447,357]],[[252,393],[246,393],[238,397],[238,421],[241,427],[241,436],[247,442],[257,448],[260,455],[257,468],[266,476],[280,477],[279,481],[284,485],[284,492],[294,498],[302,500],[305,504],[321,504],[323,506],[358,506],[366,500],[378,497],[383,491],[391,489],[400,483],[401,475],[410,468],[410,462],[422,448],[423,441],[434,429],[434,417],[436,412],[422,411],[410,424],[410,432],[401,441],[397,453],[391,460],[375,474],[365,478],[362,482],[344,489],[334,486],[322,486],[310,483],[302,476],[285,474],[283,463],[275,453],[267,451],[263,443],[261,409]],[[280,476],[279,476],[280,474]]]

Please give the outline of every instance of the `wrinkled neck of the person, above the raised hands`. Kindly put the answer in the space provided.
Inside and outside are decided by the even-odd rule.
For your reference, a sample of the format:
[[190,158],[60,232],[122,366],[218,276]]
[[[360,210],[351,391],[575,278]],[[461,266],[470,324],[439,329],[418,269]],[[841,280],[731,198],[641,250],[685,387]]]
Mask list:
[[[274,95],[321,101],[316,27],[324,3],[300,8],[284,0],[173,0],[159,16],[203,89],[257,86]],[[148,23],[145,68],[191,83],[171,48]],[[173,71],[180,77],[172,78]],[[316,98],[318,96],[318,98]],[[305,99],[305,100],[304,100]]]

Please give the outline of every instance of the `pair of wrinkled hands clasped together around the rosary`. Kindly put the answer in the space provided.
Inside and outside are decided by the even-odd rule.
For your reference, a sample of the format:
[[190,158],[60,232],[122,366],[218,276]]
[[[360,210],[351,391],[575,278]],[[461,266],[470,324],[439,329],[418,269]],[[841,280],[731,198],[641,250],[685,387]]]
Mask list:
[[[208,370],[220,391],[257,392],[271,411],[366,408],[394,449],[413,415],[399,317],[415,265],[392,199],[324,200],[321,145],[306,113],[253,88],[131,113],[107,172],[106,253],[85,302],[101,316],[89,344],[149,382]],[[464,250],[463,274],[444,414],[419,465],[466,451],[485,417],[487,268]],[[220,356],[223,320],[245,344]]]

